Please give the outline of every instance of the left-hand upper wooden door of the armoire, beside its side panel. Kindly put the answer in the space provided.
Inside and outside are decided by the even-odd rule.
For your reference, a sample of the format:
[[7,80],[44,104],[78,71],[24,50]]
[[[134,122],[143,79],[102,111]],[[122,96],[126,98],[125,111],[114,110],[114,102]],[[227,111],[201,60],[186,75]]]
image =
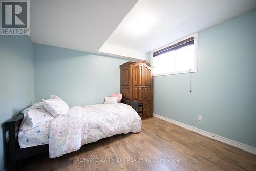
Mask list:
[[133,67],[133,100],[141,102],[143,99],[143,65]]

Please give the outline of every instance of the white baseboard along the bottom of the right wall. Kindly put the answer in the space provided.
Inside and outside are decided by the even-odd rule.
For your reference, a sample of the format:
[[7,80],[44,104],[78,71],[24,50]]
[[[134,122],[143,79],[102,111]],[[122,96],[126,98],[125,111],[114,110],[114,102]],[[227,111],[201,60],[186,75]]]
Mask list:
[[223,143],[228,144],[228,145],[231,145],[231,146],[233,146],[233,147],[237,147],[237,148],[239,148],[239,149],[242,149],[243,151],[246,151],[246,152],[249,152],[249,153],[252,153],[252,154],[256,155],[256,148],[253,147],[253,146],[246,145],[246,144],[243,144],[243,143],[241,143],[241,142],[237,142],[237,141],[234,141],[234,140],[231,140],[231,139],[228,139],[228,138],[225,138],[225,137],[216,135],[216,134],[209,133],[209,132],[207,132],[207,131],[198,129],[198,128],[194,127],[194,126],[190,126],[190,125],[187,125],[187,124],[178,122],[178,121],[176,121],[176,120],[166,118],[166,117],[161,116],[161,115],[157,115],[157,114],[153,114],[153,115],[154,115],[155,117],[160,118],[160,119],[163,119],[163,120],[165,120],[165,121],[167,121],[167,122],[170,122],[170,123],[179,125],[179,126],[181,126],[181,127],[184,127],[185,129],[188,129],[188,130],[190,130],[190,131],[194,131],[194,132],[196,132],[196,133],[198,133],[198,134],[204,135],[204,136],[206,136],[206,137],[215,139],[215,140],[217,140],[217,141],[223,142]]

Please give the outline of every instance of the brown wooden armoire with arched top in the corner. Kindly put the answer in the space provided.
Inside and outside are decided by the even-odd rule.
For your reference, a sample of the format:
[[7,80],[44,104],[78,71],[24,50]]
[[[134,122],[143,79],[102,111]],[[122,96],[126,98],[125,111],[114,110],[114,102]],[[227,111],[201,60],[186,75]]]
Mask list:
[[142,119],[153,116],[153,68],[146,61],[126,62],[120,65],[123,99],[140,103]]

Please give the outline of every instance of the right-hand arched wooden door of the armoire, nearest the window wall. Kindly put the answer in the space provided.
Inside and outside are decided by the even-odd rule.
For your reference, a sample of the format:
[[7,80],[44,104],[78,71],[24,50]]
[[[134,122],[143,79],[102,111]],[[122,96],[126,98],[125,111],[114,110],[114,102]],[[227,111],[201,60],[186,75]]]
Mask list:
[[143,101],[150,101],[153,97],[152,69],[143,65]]

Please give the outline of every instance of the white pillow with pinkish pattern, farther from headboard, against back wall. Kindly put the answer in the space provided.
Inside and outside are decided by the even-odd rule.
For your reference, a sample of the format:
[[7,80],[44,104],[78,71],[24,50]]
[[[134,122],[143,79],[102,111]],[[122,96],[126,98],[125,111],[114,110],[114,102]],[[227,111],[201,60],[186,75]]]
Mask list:
[[44,102],[45,109],[50,112],[54,117],[66,116],[69,111],[69,106],[61,98],[55,95],[51,95],[51,99],[42,100]]

